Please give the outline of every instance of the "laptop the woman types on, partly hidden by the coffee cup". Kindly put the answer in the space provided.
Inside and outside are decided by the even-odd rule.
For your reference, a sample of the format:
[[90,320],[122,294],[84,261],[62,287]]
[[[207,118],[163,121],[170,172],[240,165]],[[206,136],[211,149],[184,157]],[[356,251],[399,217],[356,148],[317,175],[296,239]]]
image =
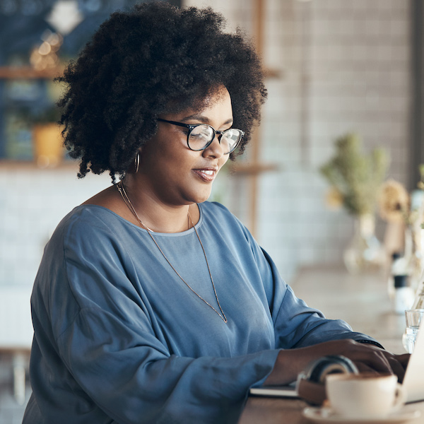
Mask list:
[[[424,324],[421,326],[424,328]],[[418,332],[402,385],[406,390],[407,404],[424,401],[424,330]],[[249,393],[253,396],[299,398],[296,382],[286,386],[252,387]]]

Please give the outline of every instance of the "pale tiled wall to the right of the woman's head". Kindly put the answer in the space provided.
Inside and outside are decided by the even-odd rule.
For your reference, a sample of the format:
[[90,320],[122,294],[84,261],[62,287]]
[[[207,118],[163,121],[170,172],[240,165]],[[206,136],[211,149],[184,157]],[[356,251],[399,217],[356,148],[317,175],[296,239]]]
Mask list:
[[[252,0],[186,0],[209,5],[252,33]],[[408,182],[410,3],[404,0],[267,0],[266,81],[258,239],[290,281],[300,264],[341,261],[353,231],[344,211],[324,203],[318,169],[338,136],[355,131],[365,151],[384,146],[389,176]],[[235,183],[229,179],[229,184]],[[230,200],[231,201],[231,200]],[[243,215],[240,207],[235,212]],[[377,232],[382,238],[384,224]]]

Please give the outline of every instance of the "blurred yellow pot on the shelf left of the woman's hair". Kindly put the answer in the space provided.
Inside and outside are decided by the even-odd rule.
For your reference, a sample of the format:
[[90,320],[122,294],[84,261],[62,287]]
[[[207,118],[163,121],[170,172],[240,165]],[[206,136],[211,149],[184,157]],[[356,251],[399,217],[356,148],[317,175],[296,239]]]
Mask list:
[[62,129],[53,122],[33,127],[34,155],[39,167],[55,167],[64,158]]

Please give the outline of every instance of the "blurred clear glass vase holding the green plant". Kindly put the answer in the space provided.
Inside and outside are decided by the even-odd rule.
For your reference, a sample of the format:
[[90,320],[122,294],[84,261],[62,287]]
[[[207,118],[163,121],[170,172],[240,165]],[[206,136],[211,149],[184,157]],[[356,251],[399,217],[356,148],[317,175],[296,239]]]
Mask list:
[[349,273],[377,271],[384,264],[382,245],[375,236],[375,216],[371,213],[355,216],[351,242],[343,252]]

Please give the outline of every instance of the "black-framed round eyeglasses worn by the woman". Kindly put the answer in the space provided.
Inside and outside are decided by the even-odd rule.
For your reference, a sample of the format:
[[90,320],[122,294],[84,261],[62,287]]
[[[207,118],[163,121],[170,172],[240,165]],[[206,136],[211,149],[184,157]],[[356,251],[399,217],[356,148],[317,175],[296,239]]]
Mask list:
[[218,134],[218,141],[223,148],[224,155],[228,155],[235,151],[245,135],[241,129],[236,128],[218,131],[208,124],[183,124],[182,122],[168,121],[162,118],[158,118],[158,121],[187,128],[189,130],[187,133],[187,146],[192,151],[205,150],[211,145],[216,134]]

